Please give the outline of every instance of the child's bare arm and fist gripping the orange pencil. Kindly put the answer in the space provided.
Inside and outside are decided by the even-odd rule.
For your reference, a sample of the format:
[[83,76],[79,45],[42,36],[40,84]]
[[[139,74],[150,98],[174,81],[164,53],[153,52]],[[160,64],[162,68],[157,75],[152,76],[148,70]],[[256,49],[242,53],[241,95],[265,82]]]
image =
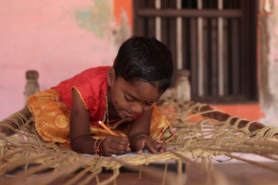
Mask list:
[[[70,140],[73,150],[80,153],[95,154],[95,139],[90,137],[90,113],[86,110],[76,90],[72,90],[72,109],[70,117]],[[100,140],[97,142],[97,146]],[[100,145],[100,153],[105,156],[127,152],[128,138],[107,136]]]

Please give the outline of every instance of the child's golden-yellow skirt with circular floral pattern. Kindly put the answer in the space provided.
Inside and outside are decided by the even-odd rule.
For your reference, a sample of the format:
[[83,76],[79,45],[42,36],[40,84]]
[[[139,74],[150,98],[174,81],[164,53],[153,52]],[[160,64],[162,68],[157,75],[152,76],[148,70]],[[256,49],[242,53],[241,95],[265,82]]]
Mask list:
[[[71,110],[61,100],[61,94],[49,89],[29,97],[27,105],[34,117],[34,124],[45,142],[55,141],[61,147],[70,147],[69,121]],[[109,121],[110,122],[110,121]],[[118,136],[127,137],[130,122],[123,122],[113,131]],[[92,138],[106,137],[109,133],[102,127],[90,124]],[[157,142],[168,142],[174,132],[166,117],[154,107],[151,119],[150,137]]]

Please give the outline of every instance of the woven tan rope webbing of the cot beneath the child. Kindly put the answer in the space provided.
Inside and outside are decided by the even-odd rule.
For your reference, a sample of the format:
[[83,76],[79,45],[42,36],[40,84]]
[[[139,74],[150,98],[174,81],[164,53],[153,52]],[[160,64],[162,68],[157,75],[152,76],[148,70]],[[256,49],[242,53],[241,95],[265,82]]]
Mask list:
[[[12,174],[12,182],[22,184],[33,174],[52,169],[51,175],[34,178],[33,182],[49,184],[58,181],[59,184],[76,184],[77,182],[78,184],[87,184],[95,178],[95,183],[98,184],[113,182],[116,184],[115,179],[119,175],[119,168],[125,166],[140,171],[139,176],[143,170],[163,178],[163,184],[182,184],[184,181],[181,172],[182,161],[192,165],[193,162],[189,159],[193,158],[195,161],[201,159],[202,168],[200,170],[208,173],[208,164],[213,167],[211,156],[220,155],[278,172],[278,167],[232,154],[232,152],[253,153],[271,160],[278,160],[278,128],[230,116],[221,110],[213,110],[206,104],[196,102],[165,99],[163,105],[159,107],[175,129],[175,138],[167,144],[167,147],[178,146],[178,149],[162,154],[123,158],[86,157],[73,150],[60,148],[55,142],[45,143],[36,133],[32,117],[30,117],[28,108],[25,107],[0,122],[0,126],[11,130],[10,136],[0,133],[0,176]],[[192,121],[192,118],[196,116],[201,116],[202,119]],[[14,129],[10,125],[11,122],[14,122],[18,128]],[[142,168],[161,160],[178,161],[177,177],[165,179],[167,163],[162,174],[157,170]],[[22,170],[15,171],[18,168]],[[98,174],[103,168],[111,169],[114,173],[110,178],[100,182]],[[78,172],[76,172],[77,170]],[[74,174],[73,178],[67,179],[66,177],[70,174]]]

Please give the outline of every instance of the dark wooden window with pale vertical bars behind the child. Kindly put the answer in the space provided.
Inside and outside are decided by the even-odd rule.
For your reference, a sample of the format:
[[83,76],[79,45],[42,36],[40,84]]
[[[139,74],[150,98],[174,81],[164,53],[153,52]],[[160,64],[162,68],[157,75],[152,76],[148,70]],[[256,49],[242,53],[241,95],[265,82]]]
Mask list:
[[134,0],[134,34],[156,36],[175,69],[191,73],[192,100],[257,100],[256,1]]

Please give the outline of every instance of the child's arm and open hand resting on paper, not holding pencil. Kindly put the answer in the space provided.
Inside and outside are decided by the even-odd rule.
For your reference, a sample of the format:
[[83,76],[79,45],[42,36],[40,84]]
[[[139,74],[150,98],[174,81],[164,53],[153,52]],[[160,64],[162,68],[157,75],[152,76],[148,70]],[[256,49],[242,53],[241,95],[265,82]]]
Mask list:
[[[153,107],[148,111],[144,111],[136,120],[132,121],[128,138],[131,148],[137,151],[137,154],[141,154],[144,147],[148,147],[152,153],[157,153],[157,147],[160,149],[160,153],[166,149],[165,143],[156,144],[152,138],[146,137],[150,135],[152,111]],[[136,142],[133,143],[135,139]]]

